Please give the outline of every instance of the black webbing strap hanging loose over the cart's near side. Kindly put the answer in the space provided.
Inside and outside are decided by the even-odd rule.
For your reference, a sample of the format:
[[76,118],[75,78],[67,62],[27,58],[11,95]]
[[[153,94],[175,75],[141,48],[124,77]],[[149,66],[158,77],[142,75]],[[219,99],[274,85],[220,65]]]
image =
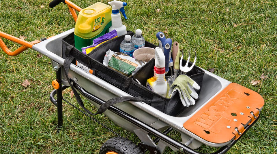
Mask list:
[[76,91],[76,89],[72,86],[69,77],[68,77],[68,72],[69,72],[69,67],[71,62],[74,60],[74,57],[71,56],[69,54],[70,50],[72,50],[74,48],[74,46],[69,45],[68,47],[66,47],[66,53],[68,54],[68,56],[65,58],[64,62],[63,62],[63,67],[64,67],[64,71],[65,71],[65,76],[66,79],[74,93],[74,96],[78,102],[78,104],[90,115],[97,115],[97,114],[102,114],[103,112],[105,112],[111,105],[119,103],[119,102],[125,102],[125,101],[142,101],[145,102],[147,104],[150,104],[149,101],[145,100],[143,97],[138,96],[138,97],[132,97],[132,96],[124,96],[124,97],[115,97],[115,98],[111,98],[110,100],[104,102],[103,104],[101,104],[100,108],[98,109],[98,111],[96,113],[91,113],[91,111],[89,111],[85,106],[84,103],[79,95],[79,93]]

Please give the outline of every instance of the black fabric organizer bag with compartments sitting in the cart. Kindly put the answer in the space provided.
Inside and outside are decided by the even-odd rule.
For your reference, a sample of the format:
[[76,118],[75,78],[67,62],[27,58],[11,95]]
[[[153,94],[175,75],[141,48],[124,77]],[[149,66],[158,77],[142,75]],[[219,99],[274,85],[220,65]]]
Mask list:
[[[134,33],[132,31],[127,31],[127,34],[132,36]],[[83,54],[81,51],[77,50],[74,47],[74,33],[71,33],[70,35],[62,39],[63,58],[65,58],[64,68],[67,78],[70,63],[76,64],[77,60],[81,64],[92,69],[93,75],[95,75],[96,77],[99,77],[100,79],[134,96],[112,98],[105,102],[103,105],[101,105],[97,113],[94,114],[84,107],[79,94],[76,90],[73,90],[74,88],[70,84],[73,92],[75,91],[74,95],[80,106],[92,115],[103,113],[109,106],[117,102],[124,101],[143,101],[149,104],[151,107],[154,107],[155,109],[158,109],[159,111],[171,116],[175,116],[181,111],[188,109],[187,107],[184,107],[181,103],[179,93],[175,93],[175,95],[173,95],[171,98],[165,98],[145,87],[146,80],[154,76],[154,58],[147,62],[145,65],[143,65],[141,69],[131,77],[126,77],[125,75],[117,71],[114,71],[113,69],[102,64],[106,51],[112,50],[114,52],[119,52],[119,45],[124,40],[124,36],[125,35],[111,39],[99,45],[97,48],[95,48],[87,55]],[[155,48],[157,46],[145,41],[145,47]],[[185,60],[183,62],[185,62]],[[170,72],[168,74],[170,74]],[[204,76],[204,71],[202,69],[200,69],[198,66],[194,66],[193,69],[186,75],[188,75],[200,87],[202,87],[202,81]],[[138,80],[142,85],[134,79]],[[200,94],[200,90],[196,90],[196,92]]]

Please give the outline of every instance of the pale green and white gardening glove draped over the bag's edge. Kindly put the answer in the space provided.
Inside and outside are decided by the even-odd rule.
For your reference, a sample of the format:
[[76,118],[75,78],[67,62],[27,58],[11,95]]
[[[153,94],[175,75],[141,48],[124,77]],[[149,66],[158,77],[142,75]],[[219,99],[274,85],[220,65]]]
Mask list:
[[171,97],[172,94],[178,91],[182,104],[189,107],[190,105],[195,104],[195,100],[193,98],[198,98],[198,94],[194,89],[200,89],[199,85],[195,81],[187,75],[179,75],[169,88],[169,96]]

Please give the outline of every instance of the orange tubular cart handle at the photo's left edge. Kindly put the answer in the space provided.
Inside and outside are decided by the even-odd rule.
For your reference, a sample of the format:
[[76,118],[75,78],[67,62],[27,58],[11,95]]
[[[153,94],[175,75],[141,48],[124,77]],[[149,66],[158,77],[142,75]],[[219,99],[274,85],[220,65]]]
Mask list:
[[18,54],[20,54],[21,52],[25,51],[26,49],[28,48],[32,48],[33,47],[33,44],[36,44],[36,43],[39,43],[40,41],[39,40],[35,40],[33,42],[28,42],[28,41],[24,41],[22,39],[19,39],[17,37],[14,37],[12,35],[9,35],[9,34],[6,34],[6,33],[3,33],[0,31],[0,37],[3,37],[5,39],[8,39],[10,41],[13,41],[15,43],[18,43],[18,44],[21,44],[22,46],[19,47],[17,50],[15,51],[11,51],[4,43],[4,41],[0,38],[0,47],[2,48],[2,50],[10,55],[10,56],[17,56]]

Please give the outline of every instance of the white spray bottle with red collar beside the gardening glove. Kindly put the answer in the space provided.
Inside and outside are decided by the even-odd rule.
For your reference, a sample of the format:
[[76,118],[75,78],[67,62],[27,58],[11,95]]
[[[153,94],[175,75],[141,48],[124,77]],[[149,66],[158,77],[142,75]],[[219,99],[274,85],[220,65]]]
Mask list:
[[146,88],[166,97],[168,83],[165,80],[165,57],[160,47],[155,48],[154,77],[147,79]]

